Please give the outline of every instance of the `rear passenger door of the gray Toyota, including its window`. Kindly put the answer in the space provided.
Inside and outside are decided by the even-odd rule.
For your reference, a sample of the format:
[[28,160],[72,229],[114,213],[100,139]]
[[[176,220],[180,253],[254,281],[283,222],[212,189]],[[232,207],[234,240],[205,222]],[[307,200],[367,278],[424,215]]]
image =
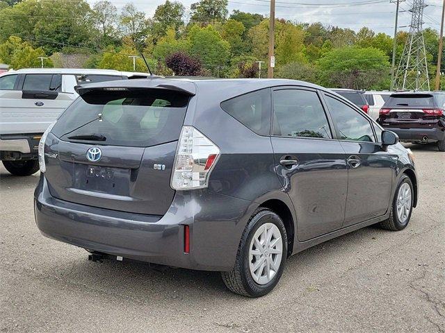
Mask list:
[[271,136],[277,175],[296,210],[298,239],[341,228],[348,170],[316,89],[273,89]]

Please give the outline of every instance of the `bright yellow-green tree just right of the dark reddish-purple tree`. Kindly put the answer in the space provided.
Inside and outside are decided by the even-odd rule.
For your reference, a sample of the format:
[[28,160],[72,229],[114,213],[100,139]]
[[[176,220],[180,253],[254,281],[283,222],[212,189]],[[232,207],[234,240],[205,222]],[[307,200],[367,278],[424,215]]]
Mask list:
[[188,43],[191,56],[202,60],[203,67],[214,75],[227,67],[230,45],[213,26],[193,26],[188,33]]

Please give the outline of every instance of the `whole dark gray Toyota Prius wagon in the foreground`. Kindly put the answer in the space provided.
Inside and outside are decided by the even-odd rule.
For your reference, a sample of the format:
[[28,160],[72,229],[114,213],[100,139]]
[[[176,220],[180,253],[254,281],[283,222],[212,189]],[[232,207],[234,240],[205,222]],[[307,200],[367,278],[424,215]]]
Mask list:
[[416,207],[413,156],[350,101],[296,80],[76,87],[44,133],[35,220],[90,259],[220,271],[258,297],[286,259]]

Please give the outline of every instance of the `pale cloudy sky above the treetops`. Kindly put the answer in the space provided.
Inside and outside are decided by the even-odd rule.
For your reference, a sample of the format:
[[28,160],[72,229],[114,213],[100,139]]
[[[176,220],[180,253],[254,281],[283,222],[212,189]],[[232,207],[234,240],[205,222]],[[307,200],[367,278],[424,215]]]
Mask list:
[[[126,3],[132,2],[138,10],[152,17],[154,10],[165,0],[110,0],[118,9]],[[186,9],[198,0],[182,0]],[[322,22],[327,26],[340,26],[358,31],[367,26],[373,31],[394,34],[394,17],[396,4],[391,0],[276,0],[275,16],[289,19],[293,22]],[[396,0],[392,0],[396,1]],[[88,0],[92,5],[95,0]],[[434,28],[439,31],[442,0],[425,0],[424,28]],[[401,2],[398,19],[398,30],[408,31],[411,21],[412,0]],[[255,12],[264,16],[269,15],[267,0],[229,0],[229,13],[233,10]]]

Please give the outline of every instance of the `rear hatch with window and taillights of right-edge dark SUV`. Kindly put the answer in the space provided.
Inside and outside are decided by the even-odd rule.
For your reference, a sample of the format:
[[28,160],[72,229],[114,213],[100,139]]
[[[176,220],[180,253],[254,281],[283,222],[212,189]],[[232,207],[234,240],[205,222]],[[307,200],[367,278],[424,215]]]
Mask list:
[[432,94],[392,94],[380,110],[380,123],[394,128],[430,128],[443,110]]

